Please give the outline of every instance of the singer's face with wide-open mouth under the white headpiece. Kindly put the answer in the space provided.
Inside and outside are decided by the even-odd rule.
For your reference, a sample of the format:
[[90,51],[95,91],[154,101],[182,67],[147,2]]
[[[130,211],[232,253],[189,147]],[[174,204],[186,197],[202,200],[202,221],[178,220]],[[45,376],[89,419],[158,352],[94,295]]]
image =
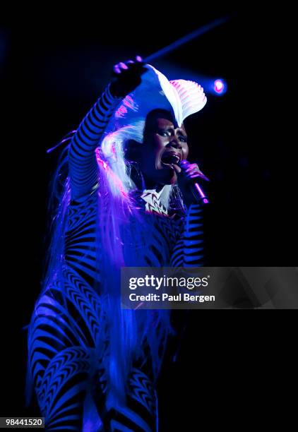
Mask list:
[[169,113],[156,112],[146,121],[142,147],[140,164],[146,187],[176,184],[179,161],[189,154],[184,126],[174,124]]

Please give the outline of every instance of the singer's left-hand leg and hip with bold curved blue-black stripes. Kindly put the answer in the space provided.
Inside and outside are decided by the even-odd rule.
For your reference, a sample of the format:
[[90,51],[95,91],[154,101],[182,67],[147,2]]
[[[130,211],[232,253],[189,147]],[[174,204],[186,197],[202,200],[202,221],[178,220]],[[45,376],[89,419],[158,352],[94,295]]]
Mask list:
[[[99,304],[76,275],[64,273],[40,297],[30,324],[29,367],[48,431],[100,431],[92,400]],[[95,366],[94,366],[95,365]],[[87,428],[87,426],[86,426]]]

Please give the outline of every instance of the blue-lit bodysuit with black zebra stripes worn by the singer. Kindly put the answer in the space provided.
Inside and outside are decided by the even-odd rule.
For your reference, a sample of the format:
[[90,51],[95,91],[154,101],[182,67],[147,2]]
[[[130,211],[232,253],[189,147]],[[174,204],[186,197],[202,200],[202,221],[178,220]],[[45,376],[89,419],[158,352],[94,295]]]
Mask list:
[[[69,150],[71,205],[65,263],[42,292],[30,324],[29,368],[48,431],[155,431],[157,399],[150,364],[133,364],[126,405],[114,407],[97,348],[102,340],[100,296],[93,289],[95,266],[97,162],[94,150],[119,104],[109,88],[81,123]],[[201,265],[201,208],[191,205],[184,220],[167,215],[160,193],[143,191],[138,202],[150,217],[150,244],[143,266]],[[61,289],[61,287],[64,289]]]

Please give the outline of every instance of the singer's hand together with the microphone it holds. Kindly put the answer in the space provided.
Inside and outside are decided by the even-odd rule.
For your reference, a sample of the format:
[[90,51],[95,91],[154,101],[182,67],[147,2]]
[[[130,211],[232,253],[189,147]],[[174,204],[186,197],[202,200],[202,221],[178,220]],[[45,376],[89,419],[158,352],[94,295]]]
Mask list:
[[203,205],[208,204],[209,200],[207,196],[205,196],[205,193],[199,184],[201,180],[210,181],[208,177],[201,172],[197,164],[191,164],[188,160],[181,160],[178,165],[181,168],[181,177],[184,180],[182,181],[184,189],[187,190],[187,188],[189,188],[191,190],[192,196],[196,202]]

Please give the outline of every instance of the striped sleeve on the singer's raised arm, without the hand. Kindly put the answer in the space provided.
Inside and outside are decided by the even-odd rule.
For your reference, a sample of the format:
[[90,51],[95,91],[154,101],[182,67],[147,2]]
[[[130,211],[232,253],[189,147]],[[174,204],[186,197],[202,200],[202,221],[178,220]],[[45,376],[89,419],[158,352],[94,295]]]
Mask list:
[[71,140],[68,160],[72,199],[87,195],[98,182],[95,149],[120,100],[111,95],[108,85]]

